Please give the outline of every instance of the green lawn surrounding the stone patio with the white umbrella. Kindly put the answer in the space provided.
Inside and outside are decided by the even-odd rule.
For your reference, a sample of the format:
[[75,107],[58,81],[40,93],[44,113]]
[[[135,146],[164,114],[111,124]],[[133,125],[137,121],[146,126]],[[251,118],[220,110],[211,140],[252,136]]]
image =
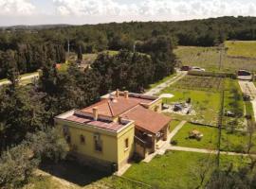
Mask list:
[[174,94],[173,98],[163,99],[163,102],[168,104],[174,102],[185,102],[189,97],[192,99],[192,107],[195,114],[180,115],[177,113],[171,113],[171,116],[174,119],[216,125],[220,105],[219,93],[176,89],[173,88],[173,86],[170,86],[161,91],[161,94]]

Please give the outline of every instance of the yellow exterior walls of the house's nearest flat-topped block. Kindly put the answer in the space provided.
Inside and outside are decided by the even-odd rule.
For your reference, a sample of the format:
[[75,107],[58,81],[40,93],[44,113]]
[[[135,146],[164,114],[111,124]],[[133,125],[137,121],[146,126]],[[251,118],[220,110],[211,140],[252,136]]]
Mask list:
[[[73,154],[79,157],[80,160],[84,158],[88,162],[98,164],[112,164],[117,163],[119,167],[122,162],[127,161],[134,152],[134,124],[130,124],[127,128],[121,130],[119,133],[108,131],[105,129],[98,129],[93,127],[84,127],[80,124],[56,119],[55,123],[63,133],[63,127],[69,129],[71,138],[71,148]],[[94,134],[100,133],[102,141],[102,151],[95,149]],[[81,135],[85,139],[85,143],[81,143]],[[125,139],[129,139],[129,148],[125,148]],[[86,162],[84,160],[84,162]],[[82,162],[82,161],[81,161]]]

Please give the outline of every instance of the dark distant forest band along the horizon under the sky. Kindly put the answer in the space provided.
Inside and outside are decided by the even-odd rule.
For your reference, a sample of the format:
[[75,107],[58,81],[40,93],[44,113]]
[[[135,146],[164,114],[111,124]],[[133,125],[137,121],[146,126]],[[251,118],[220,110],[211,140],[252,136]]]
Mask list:
[[225,40],[256,40],[256,17],[220,17],[181,22],[131,22],[86,26],[58,26],[27,30],[3,30],[0,33],[0,50],[17,49],[20,43],[67,42],[70,49],[95,52],[105,49],[133,49],[136,41],[147,41],[164,35],[180,45],[212,46]]

